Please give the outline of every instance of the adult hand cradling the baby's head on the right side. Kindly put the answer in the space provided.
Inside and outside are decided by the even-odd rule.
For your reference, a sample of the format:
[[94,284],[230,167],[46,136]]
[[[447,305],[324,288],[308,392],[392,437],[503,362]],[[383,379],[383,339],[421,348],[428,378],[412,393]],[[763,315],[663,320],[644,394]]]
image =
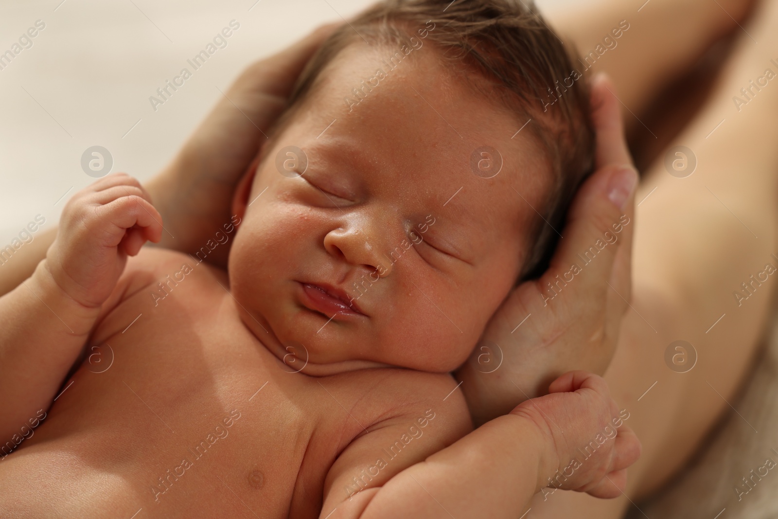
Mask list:
[[596,170],[570,206],[548,271],[510,293],[455,373],[476,426],[544,395],[562,373],[602,374],[615,352],[631,295],[638,176],[613,89],[604,75],[592,82]]

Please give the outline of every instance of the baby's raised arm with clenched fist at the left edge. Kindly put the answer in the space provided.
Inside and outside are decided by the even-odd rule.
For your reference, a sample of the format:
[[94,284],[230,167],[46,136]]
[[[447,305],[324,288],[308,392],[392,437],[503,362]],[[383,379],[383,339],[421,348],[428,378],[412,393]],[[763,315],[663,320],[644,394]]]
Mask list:
[[127,256],[159,241],[149,195],[125,174],[100,179],[63,209],[33,275],[0,297],[0,443],[51,399],[107,305]]

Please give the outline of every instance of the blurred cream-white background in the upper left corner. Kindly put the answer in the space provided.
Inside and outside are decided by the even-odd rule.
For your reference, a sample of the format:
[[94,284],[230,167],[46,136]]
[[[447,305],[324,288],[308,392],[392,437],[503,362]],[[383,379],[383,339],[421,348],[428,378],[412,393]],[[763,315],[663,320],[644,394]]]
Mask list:
[[[44,229],[56,223],[67,199],[95,180],[81,167],[87,148],[107,149],[111,172],[152,177],[251,61],[370,3],[0,2],[0,55],[37,20],[45,24],[31,47],[0,61],[0,248],[38,214]],[[195,71],[187,59],[231,20],[240,27],[226,47]],[[149,96],[184,67],[192,77],[154,110]]]

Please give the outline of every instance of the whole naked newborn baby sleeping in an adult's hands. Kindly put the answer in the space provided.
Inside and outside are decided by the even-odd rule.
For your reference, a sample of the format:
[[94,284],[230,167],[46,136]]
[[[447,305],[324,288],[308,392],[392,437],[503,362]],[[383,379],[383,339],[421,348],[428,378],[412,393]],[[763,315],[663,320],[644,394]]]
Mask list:
[[[597,495],[636,458],[601,379],[470,433],[448,374],[591,168],[573,70],[520,2],[387,2],[312,59],[196,257],[141,249],[171,230],[131,177],[76,194],[0,300],[4,338],[51,351],[6,372],[88,356],[25,378],[54,402],[3,451],[3,517],[432,517],[478,485],[517,516],[605,423],[552,482]],[[228,272],[202,263],[227,240]]]

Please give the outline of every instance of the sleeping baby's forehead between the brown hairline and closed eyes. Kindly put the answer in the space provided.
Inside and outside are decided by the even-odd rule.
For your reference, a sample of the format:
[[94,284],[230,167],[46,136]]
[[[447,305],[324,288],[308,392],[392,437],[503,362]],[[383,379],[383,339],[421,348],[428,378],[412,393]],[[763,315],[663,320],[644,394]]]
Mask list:
[[457,76],[432,45],[401,61],[394,51],[345,47],[296,110],[289,137],[304,142],[312,165],[338,172],[332,181],[359,181],[452,221],[525,228],[552,181],[527,121]]

